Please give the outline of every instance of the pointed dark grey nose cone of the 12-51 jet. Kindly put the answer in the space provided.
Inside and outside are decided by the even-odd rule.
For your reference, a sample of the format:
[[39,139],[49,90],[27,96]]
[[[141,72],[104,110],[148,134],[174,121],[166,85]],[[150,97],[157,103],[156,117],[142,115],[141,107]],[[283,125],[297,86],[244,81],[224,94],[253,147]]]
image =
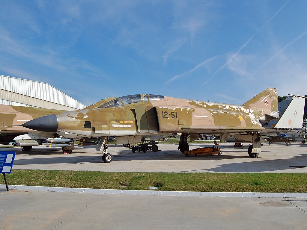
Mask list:
[[58,119],[55,114],[38,117],[21,125],[25,128],[34,129],[43,132],[57,132]]

